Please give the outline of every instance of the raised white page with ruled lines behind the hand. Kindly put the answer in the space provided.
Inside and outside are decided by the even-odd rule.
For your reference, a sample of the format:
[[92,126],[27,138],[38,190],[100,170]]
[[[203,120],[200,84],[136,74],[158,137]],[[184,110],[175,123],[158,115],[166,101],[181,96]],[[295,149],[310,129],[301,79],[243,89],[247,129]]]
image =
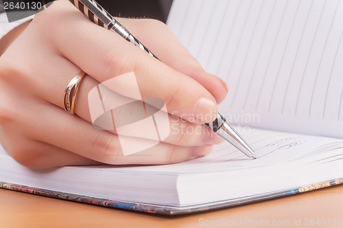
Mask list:
[[340,0],[176,0],[167,24],[228,82],[230,122],[343,138],[342,21]]

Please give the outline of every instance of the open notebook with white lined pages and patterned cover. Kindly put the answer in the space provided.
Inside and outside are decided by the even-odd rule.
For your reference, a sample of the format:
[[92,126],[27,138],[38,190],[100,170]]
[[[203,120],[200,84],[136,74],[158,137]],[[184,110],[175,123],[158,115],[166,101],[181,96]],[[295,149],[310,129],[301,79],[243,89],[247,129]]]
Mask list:
[[34,171],[2,151],[0,187],[182,214],[343,183],[342,21],[338,0],[175,0],[167,23],[228,82],[220,111],[258,159],[223,143],[168,166]]

